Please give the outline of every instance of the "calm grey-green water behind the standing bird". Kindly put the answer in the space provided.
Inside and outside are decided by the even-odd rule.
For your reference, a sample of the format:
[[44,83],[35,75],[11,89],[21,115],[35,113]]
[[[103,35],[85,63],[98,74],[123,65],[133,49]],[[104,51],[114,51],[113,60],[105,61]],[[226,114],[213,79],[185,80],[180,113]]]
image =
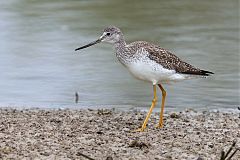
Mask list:
[[164,85],[168,109],[235,109],[240,103],[238,15],[237,0],[1,1],[0,105],[147,109],[151,84],[133,78],[110,45],[74,51],[113,24],[128,42],[159,44],[215,72],[207,79]]

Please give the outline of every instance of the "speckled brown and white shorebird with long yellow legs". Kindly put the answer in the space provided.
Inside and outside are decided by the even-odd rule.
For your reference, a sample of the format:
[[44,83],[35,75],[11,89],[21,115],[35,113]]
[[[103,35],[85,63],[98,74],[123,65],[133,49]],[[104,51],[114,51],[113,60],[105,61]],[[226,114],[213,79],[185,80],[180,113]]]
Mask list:
[[144,131],[153,108],[157,103],[157,86],[162,91],[162,103],[160,119],[157,127],[163,127],[163,111],[165,105],[166,91],[162,84],[171,81],[181,81],[196,77],[207,77],[213,72],[196,68],[182,61],[170,51],[145,41],[136,41],[127,44],[123,33],[115,26],[109,26],[102,32],[100,38],[87,45],[75,49],[75,51],[90,47],[100,42],[114,45],[116,57],[130,73],[140,80],[152,83],[153,100],[147,116],[136,131]]

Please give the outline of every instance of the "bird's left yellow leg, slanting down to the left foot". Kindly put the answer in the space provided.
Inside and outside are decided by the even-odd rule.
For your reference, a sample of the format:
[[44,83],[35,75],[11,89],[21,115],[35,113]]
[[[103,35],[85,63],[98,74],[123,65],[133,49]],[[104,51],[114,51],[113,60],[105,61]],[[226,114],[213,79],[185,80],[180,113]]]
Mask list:
[[150,117],[150,115],[151,115],[151,113],[152,113],[152,110],[153,110],[153,108],[155,107],[156,103],[157,103],[157,87],[156,87],[156,85],[153,85],[153,100],[152,100],[152,105],[151,105],[151,107],[150,107],[150,109],[149,109],[149,111],[148,111],[147,117],[145,118],[145,120],[144,120],[144,122],[143,122],[143,124],[142,124],[142,127],[139,128],[139,129],[137,129],[137,130],[136,130],[137,132],[143,132],[144,129],[146,128],[148,119],[149,119],[149,117]]

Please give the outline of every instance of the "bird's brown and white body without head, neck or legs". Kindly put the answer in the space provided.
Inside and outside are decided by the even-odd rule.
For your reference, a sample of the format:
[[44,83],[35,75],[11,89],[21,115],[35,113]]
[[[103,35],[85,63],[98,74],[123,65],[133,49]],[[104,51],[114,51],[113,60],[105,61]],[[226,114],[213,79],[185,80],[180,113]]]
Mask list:
[[145,41],[114,43],[116,56],[130,73],[141,80],[160,84],[208,76],[212,72],[198,69],[171,52]]

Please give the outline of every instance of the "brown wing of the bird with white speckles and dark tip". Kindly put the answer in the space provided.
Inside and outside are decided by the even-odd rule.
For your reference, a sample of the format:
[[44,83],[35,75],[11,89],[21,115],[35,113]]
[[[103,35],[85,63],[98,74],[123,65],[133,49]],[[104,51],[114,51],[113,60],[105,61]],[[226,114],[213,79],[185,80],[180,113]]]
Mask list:
[[196,68],[184,61],[180,58],[172,54],[171,52],[156,46],[156,45],[145,45],[144,49],[149,53],[149,58],[166,69],[175,70],[177,73],[182,74],[192,74],[192,75],[202,75],[209,76],[209,74],[213,74],[210,71],[201,70]]

